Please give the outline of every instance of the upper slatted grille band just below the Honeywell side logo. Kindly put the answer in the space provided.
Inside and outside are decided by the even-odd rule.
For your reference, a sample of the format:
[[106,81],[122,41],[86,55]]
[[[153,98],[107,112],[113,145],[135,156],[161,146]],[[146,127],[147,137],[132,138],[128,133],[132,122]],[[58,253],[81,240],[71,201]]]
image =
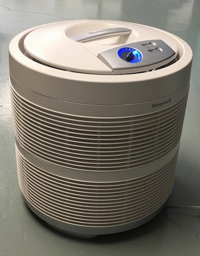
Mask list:
[[87,171],[151,163],[180,140],[187,97],[159,112],[118,118],[73,116],[41,108],[12,88],[15,136],[34,156]]

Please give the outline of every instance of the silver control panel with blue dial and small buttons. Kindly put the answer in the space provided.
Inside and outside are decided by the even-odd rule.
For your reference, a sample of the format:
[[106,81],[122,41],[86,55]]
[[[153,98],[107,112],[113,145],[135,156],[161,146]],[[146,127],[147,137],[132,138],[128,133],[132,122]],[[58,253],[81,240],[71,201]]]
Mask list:
[[146,40],[118,46],[97,55],[114,74],[139,73],[162,67],[176,57],[163,40]]

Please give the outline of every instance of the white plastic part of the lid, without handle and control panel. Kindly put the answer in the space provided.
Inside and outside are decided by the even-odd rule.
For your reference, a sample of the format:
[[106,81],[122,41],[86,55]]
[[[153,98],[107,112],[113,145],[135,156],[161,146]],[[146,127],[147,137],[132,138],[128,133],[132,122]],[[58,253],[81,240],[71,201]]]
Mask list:
[[[70,39],[83,33],[109,28],[129,28],[130,34],[78,42]],[[124,22],[70,21],[48,24],[31,31],[24,39],[24,49],[37,61],[54,68],[88,74],[112,74],[97,55],[116,46],[135,41],[162,39],[174,52],[176,42],[164,31]],[[134,72],[133,72],[134,73]]]

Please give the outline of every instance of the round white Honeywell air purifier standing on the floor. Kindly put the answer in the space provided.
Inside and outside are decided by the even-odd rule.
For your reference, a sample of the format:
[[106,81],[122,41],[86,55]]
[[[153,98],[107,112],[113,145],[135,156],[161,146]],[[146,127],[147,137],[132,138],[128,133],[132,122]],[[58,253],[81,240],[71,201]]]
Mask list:
[[111,20],[35,27],[10,44],[19,186],[33,212],[83,238],[137,227],[170,195],[192,51]]

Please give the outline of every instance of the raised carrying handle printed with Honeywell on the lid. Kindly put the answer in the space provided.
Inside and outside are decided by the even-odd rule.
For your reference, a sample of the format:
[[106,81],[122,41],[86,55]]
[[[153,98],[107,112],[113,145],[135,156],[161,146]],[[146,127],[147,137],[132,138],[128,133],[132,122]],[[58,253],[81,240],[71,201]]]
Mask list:
[[87,42],[107,36],[129,35],[131,32],[132,30],[129,28],[106,28],[71,36],[69,38],[77,42]]

